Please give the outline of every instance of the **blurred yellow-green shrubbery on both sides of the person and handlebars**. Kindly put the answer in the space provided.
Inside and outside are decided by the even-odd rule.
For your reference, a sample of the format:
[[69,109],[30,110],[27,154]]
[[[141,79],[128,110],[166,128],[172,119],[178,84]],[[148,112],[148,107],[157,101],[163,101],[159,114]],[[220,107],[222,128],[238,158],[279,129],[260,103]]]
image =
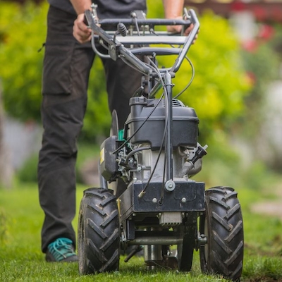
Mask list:
[[[162,1],[148,0],[148,18],[163,17]],[[0,78],[3,81],[4,104],[11,116],[39,121],[41,75],[46,36],[48,5],[20,6],[0,3]],[[228,21],[206,13],[200,17],[200,35],[188,53],[195,67],[192,85],[180,99],[196,109],[200,118],[201,138],[226,129],[230,121],[242,114],[243,98],[249,90],[243,69],[239,44]],[[165,60],[165,61],[164,61]],[[173,58],[161,59],[169,66]],[[190,64],[183,63],[173,82],[177,94],[191,77]],[[98,59],[90,75],[87,114],[82,138],[94,140],[108,135],[111,115],[107,106],[104,69]]]

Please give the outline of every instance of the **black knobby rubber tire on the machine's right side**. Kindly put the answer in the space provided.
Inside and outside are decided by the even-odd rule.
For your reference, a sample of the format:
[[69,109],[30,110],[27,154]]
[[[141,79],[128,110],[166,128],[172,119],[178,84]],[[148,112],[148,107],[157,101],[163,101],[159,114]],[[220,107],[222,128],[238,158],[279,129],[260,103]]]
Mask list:
[[200,234],[207,244],[200,247],[201,269],[238,281],[243,268],[243,217],[237,192],[215,187],[206,191],[206,211],[200,216]]

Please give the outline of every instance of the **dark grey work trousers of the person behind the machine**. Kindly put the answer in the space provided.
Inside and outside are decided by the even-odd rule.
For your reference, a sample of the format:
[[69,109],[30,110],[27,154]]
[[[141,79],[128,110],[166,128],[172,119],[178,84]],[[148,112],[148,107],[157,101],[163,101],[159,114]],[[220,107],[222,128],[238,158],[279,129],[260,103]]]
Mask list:
[[[87,85],[94,52],[73,38],[75,16],[50,6],[42,79],[44,133],[39,152],[39,202],[44,211],[42,252],[56,238],[75,244],[75,161],[77,139],[87,106]],[[141,75],[121,60],[104,59],[109,110],[116,109],[120,128],[129,114],[128,99]]]

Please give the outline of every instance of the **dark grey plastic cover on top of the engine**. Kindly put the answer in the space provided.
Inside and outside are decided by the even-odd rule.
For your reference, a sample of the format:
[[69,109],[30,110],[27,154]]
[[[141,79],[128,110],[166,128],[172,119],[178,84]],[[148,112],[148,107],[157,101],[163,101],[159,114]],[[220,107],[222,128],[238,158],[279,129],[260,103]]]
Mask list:
[[[133,145],[149,143],[152,150],[157,150],[164,137],[165,121],[164,99],[159,102],[159,99],[133,97],[130,99],[130,114],[125,122],[125,137],[133,136],[130,140]],[[197,147],[198,123],[199,118],[194,109],[173,99],[171,142],[174,149],[179,146]]]

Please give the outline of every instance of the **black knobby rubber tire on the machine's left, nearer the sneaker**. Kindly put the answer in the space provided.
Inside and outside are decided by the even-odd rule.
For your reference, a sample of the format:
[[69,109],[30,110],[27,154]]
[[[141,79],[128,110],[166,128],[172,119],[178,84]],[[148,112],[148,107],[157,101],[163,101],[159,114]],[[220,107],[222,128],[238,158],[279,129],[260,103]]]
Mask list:
[[80,274],[118,270],[119,245],[118,207],[112,190],[85,190],[78,217]]

